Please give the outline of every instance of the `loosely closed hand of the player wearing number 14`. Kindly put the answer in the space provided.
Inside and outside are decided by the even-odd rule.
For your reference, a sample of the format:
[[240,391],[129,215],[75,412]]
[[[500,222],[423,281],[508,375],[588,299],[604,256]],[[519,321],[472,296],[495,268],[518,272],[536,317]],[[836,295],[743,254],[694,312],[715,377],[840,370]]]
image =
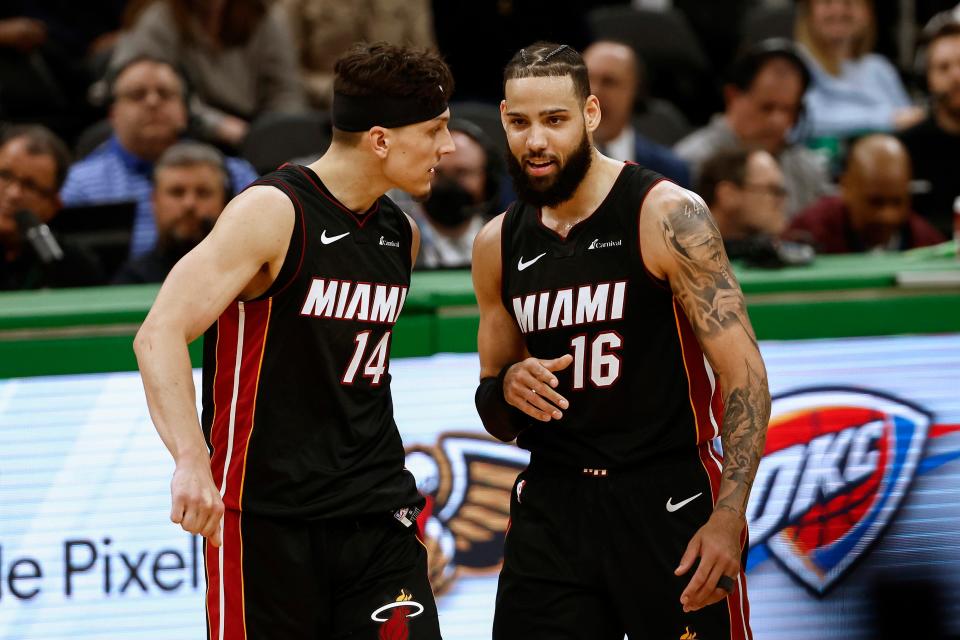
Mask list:
[[223,543],[223,499],[205,456],[177,462],[170,482],[170,520],[184,531],[199,533],[219,547]]

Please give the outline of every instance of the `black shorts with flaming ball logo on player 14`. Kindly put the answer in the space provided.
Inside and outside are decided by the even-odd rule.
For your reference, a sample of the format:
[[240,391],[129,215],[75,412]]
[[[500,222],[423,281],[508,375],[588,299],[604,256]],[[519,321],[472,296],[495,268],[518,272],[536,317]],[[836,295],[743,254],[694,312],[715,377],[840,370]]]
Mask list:
[[208,640],[438,640],[427,552],[390,513],[282,520],[228,510],[204,546]]

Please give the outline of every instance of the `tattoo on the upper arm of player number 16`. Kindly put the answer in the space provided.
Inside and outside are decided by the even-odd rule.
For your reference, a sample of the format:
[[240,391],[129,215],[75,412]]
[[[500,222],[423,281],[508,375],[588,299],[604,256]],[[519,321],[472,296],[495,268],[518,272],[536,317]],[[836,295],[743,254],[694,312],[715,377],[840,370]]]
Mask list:
[[739,325],[756,344],[740,285],[706,205],[688,196],[666,215],[662,230],[678,265],[670,285],[697,335],[711,337]]

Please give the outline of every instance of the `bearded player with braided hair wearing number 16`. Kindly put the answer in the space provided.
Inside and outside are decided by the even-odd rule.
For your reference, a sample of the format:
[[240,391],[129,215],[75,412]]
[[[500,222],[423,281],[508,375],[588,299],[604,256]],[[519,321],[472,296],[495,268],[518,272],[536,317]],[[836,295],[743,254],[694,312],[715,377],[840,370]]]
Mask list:
[[474,244],[476,401],[487,431],[531,455],[493,636],[750,638],[763,360],[706,205],[593,148],[589,86],[553,43],[504,72],[519,201]]

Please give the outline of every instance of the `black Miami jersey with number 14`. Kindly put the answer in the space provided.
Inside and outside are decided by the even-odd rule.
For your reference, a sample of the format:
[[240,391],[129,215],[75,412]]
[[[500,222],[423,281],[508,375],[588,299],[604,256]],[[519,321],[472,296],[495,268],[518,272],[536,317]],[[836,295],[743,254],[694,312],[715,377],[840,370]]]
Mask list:
[[308,167],[255,184],[290,198],[295,225],[273,285],[205,336],[202,422],[224,504],[314,518],[418,503],[388,371],[409,221],[385,196],[351,212]]

